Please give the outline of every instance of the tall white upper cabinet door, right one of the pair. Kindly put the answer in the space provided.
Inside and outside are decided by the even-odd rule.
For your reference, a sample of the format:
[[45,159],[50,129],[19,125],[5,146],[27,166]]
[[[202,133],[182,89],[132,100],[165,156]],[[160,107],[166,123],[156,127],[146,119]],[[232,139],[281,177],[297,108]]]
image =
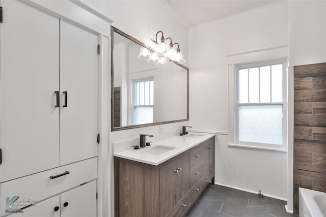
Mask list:
[[97,44],[97,35],[61,20],[61,165],[97,156]]

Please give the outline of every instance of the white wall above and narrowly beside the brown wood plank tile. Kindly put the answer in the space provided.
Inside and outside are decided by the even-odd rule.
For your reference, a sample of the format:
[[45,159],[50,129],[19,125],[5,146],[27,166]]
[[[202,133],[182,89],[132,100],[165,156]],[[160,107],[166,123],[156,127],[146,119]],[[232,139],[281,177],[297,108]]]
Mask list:
[[[293,66],[326,62],[326,1],[290,1],[290,126],[293,126]],[[293,210],[293,127],[288,152],[288,209]]]

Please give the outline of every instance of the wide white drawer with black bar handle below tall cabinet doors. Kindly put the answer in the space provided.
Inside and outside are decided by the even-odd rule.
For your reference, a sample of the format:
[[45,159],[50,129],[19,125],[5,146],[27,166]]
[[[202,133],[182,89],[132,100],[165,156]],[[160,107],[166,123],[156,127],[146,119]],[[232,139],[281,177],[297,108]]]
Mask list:
[[96,178],[97,158],[91,158],[1,183],[0,216],[5,214],[7,197],[40,201]]

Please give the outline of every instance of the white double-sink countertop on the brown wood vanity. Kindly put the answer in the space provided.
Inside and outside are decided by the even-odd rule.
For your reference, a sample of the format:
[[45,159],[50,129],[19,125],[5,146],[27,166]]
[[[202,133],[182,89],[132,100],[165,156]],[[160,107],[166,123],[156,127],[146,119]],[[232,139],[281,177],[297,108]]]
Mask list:
[[[130,147],[130,149],[114,153],[113,156],[157,166],[214,136],[214,134],[191,132],[187,135],[173,136],[152,142],[151,146],[146,146],[140,149],[133,149],[133,147]],[[151,149],[159,149],[159,147],[164,149],[164,151],[168,151],[161,154],[157,154],[159,151],[154,154],[149,153],[151,152]]]

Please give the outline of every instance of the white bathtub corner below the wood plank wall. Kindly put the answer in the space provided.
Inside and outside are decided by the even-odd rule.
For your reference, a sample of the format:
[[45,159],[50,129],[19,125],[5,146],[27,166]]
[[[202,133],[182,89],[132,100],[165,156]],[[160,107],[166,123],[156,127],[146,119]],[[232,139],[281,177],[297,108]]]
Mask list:
[[326,217],[326,193],[299,188],[300,217]]

